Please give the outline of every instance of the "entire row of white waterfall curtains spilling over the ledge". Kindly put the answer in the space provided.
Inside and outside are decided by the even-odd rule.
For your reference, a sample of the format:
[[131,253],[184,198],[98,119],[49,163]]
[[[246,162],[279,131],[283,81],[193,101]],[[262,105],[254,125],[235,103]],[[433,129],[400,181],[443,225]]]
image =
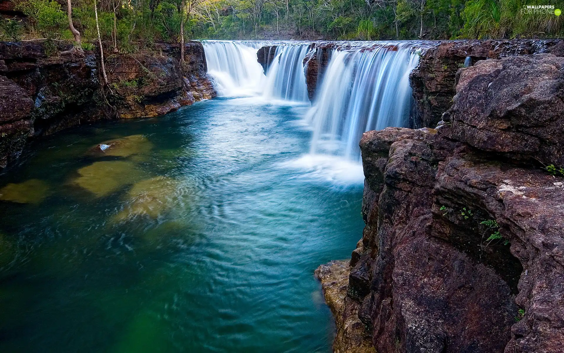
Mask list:
[[[266,101],[308,102],[303,61],[331,56],[306,115],[313,129],[311,156],[338,156],[357,163],[362,133],[408,124],[409,73],[421,42],[202,41],[218,95]],[[262,46],[276,46],[266,76],[257,61]],[[324,48],[321,50],[321,48]],[[318,63],[321,65],[321,62]]]

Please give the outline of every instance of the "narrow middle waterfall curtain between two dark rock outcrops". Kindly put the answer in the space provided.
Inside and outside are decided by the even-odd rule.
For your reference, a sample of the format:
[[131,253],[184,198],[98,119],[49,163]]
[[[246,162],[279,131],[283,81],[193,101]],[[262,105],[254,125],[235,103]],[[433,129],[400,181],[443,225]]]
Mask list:
[[266,98],[309,102],[303,73],[303,59],[309,50],[310,43],[282,44],[276,47],[266,75]]

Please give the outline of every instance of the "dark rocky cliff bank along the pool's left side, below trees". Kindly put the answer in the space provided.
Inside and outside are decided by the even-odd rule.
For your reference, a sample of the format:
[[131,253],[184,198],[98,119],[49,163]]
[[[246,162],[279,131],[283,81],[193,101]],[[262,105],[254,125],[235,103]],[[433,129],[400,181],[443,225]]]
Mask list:
[[97,53],[47,55],[40,43],[0,42],[0,171],[30,138],[100,119],[166,114],[215,96],[204,49],[157,43],[152,52],[106,53],[109,85],[100,86]]

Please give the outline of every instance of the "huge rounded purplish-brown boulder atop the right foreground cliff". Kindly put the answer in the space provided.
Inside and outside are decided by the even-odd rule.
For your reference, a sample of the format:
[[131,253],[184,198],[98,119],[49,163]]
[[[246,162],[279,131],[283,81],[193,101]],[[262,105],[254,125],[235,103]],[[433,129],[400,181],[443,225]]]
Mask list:
[[564,166],[564,58],[482,60],[461,69],[451,138],[506,158]]

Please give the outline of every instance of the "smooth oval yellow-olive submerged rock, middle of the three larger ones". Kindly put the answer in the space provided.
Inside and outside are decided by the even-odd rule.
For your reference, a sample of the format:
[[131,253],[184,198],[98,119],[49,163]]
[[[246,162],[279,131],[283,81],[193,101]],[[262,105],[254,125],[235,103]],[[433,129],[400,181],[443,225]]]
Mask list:
[[95,162],[78,169],[80,177],[72,180],[96,197],[107,196],[122,186],[134,184],[143,175],[135,164],[123,160]]

